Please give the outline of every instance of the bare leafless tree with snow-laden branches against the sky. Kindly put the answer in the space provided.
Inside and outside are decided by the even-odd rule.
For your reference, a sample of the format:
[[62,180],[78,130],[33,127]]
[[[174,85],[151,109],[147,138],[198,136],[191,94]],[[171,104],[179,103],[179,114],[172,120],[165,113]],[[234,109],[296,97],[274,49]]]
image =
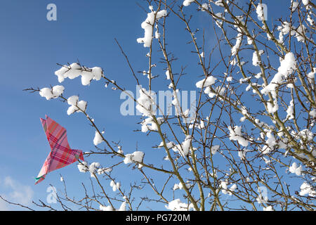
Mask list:
[[[147,6],[139,27],[144,37],[134,38],[147,49],[143,60],[148,68],[135,72],[117,41],[135,84],[142,86],[138,98],[126,91],[135,84],[122,86],[100,67],[60,65],[55,75],[60,83],[78,77],[82,85],[100,82],[129,96],[142,114],[135,129],[156,140],[153,149],[131,151],[108,140],[86,101],[64,86],[29,89],[68,103],[68,115],[82,113],[96,129],[91,140],[96,150],[85,153],[95,162],[78,162],[80,172],[95,178],[96,193],[83,192],[80,199],[58,193],[58,202],[64,209],[74,204],[87,210],[138,210],[154,204],[168,210],[315,210],[315,4],[284,1],[282,18],[272,23],[265,20],[266,5],[257,0],[147,0]],[[212,48],[195,20],[201,13],[213,24]],[[169,23],[185,29],[186,45],[169,44]],[[180,66],[185,56],[173,54],[178,48],[195,57],[187,65],[196,68],[194,74]],[[146,82],[139,79],[143,75]],[[197,91],[195,108],[180,102],[184,84]],[[173,115],[155,101],[158,90],[171,91]],[[164,151],[164,159],[146,159],[157,150]],[[115,169],[122,168],[126,173],[114,177]],[[142,179],[121,184],[126,174]],[[112,190],[106,191],[109,183]]]

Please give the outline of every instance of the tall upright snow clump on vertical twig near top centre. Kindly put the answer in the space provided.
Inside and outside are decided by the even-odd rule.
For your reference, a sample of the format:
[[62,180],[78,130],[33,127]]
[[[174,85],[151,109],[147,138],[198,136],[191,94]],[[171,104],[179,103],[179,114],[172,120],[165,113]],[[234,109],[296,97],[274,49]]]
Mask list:
[[[150,7],[152,10],[152,7]],[[163,18],[167,15],[166,10],[162,10],[159,12],[152,11],[150,13],[147,13],[146,20],[141,24],[141,27],[143,30],[145,30],[145,35],[142,38],[138,38],[138,43],[143,43],[144,47],[150,47],[152,45],[152,34],[153,34],[153,26],[154,26],[154,20],[159,20],[160,18]]]

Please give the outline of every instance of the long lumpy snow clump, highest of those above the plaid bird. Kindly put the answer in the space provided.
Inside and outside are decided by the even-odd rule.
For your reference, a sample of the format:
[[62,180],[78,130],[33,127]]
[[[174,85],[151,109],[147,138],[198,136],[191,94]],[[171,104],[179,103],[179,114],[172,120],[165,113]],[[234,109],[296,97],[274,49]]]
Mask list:
[[55,71],[58,77],[58,82],[62,83],[66,78],[74,79],[81,75],[81,83],[86,86],[89,85],[92,79],[100,80],[103,76],[102,68],[86,68],[79,65],[79,63],[72,63],[71,65],[63,65],[62,68]]

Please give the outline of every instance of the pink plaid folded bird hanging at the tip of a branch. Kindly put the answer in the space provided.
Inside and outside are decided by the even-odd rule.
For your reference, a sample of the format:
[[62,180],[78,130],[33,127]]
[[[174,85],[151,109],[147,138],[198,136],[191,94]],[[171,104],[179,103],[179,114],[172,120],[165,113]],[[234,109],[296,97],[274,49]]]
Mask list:
[[67,140],[67,131],[64,127],[51,120],[47,115],[46,120],[41,119],[41,124],[44,127],[49,145],[51,146],[51,153],[49,153],[43,167],[41,167],[35,184],[43,181],[49,172],[77,162],[79,159],[84,161],[82,150],[70,148]]

